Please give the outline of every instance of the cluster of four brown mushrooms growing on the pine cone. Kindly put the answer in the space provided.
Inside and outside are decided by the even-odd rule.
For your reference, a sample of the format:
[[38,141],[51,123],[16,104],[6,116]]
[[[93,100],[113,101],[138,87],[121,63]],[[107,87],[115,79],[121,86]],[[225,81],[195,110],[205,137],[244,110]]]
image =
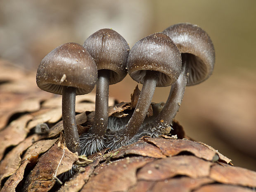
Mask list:
[[[36,82],[39,88],[62,95],[66,146],[71,152],[88,155],[104,147],[127,145],[139,132],[154,136],[167,133],[185,86],[206,80],[214,62],[211,39],[196,25],[170,26],[162,33],[137,41],[131,50],[119,33],[101,29],[87,38],[83,46],[66,43],[52,50],[41,61]],[[128,123],[116,133],[106,135],[109,85],[122,81],[127,71],[143,84],[140,97]],[[75,97],[91,92],[96,82],[95,121],[88,133],[82,135],[80,146]],[[164,108],[142,128],[156,86],[169,85],[171,91]]]

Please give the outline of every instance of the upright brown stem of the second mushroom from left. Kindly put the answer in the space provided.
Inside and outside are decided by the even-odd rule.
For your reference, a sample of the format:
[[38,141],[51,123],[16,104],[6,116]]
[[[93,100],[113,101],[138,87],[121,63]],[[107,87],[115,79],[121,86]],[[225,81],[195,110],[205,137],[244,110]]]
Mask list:
[[99,70],[96,85],[95,119],[91,133],[103,136],[108,125],[109,70]]

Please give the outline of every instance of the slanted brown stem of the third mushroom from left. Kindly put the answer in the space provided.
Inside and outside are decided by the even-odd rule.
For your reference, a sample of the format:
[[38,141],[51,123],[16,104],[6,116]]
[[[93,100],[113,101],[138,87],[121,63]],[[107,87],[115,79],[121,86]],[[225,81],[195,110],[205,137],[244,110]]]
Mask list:
[[122,131],[122,134],[124,136],[132,138],[142,125],[149,109],[149,105],[151,104],[158,78],[159,72],[147,70],[142,90],[140,92],[140,97],[133,112],[133,115],[128,121],[124,130]]

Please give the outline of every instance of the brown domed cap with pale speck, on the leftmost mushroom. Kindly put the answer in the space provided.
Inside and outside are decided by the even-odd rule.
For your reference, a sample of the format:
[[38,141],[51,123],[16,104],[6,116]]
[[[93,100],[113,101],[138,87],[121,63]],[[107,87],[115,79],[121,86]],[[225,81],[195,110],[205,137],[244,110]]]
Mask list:
[[56,47],[41,61],[36,74],[38,87],[62,95],[63,86],[77,88],[76,95],[92,91],[97,67],[90,54],[78,43]]

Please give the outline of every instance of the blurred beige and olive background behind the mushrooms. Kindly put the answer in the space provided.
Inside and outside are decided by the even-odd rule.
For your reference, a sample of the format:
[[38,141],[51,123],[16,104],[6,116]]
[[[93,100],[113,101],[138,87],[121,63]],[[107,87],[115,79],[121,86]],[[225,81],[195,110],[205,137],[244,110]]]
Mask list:
[[[83,44],[101,28],[120,33],[131,48],[170,25],[197,24],[213,41],[215,69],[207,81],[187,87],[175,119],[194,140],[256,171],[255,7],[255,0],[1,0],[0,59],[36,74],[52,49]],[[128,102],[136,85],[126,76],[109,95]],[[156,88],[153,102],[165,102],[169,90]]]

